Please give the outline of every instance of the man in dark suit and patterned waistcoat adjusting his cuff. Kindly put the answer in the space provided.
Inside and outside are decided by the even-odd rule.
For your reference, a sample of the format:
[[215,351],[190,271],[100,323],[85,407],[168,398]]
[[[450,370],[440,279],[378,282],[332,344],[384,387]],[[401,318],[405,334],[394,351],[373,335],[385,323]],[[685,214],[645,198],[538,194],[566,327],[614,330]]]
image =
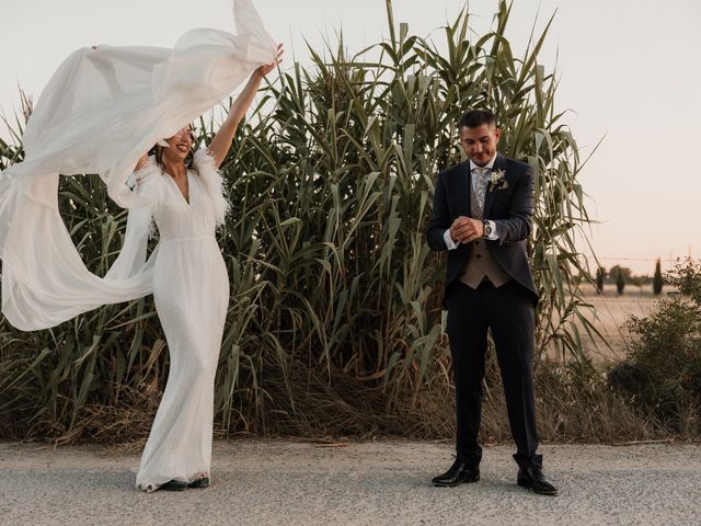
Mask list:
[[533,171],[496,151],[501,130],[492,112],[472,110],[459,122],[469,160],[438,174],[426,236],[448,250],[444,306],[452,355],[457,407],[457,458],[433,483],[453,487],[480,480],[478,443],[487,329],[502,371],[517,483],[536,493],[558,490],[537,454],[532,380],[538,293],[526,259],[533,214]]

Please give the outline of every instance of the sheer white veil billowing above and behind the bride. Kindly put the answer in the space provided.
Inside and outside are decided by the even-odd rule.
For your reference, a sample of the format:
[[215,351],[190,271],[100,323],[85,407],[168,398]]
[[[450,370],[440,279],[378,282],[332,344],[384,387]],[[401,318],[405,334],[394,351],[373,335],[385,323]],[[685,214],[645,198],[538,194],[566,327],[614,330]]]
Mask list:
[[[234,19],[235,35],[200,28],[173,49],[83,48],[56,71],[27,123],[25,160],[0,173],[2,312],[14,327],[45,329],[151,293],[153,262],[143,263],[139,218],[150,217],[152,205],[125,182],[156,141],[275,59],[251,0],[234,1]],[[59,173],[99,173],[110,196],[133,209],[118,265],[104,278],[85,268],[62,222]]]

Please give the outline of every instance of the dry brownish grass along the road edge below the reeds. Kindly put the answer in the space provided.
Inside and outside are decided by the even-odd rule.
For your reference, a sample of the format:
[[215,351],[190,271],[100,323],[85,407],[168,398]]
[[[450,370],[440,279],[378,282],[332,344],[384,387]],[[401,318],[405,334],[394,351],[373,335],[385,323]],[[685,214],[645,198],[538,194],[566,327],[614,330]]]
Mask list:
[[[490,352],[491,353],[491,352]],[[492,353],[490,354],[492,356]],[[438,368],[449,367],[444,355]],[[394,399],[381,387],[337,374],[333,385],[302,364],[290,378],[290,397],[276,392],[281,382],[273,376],[266,386],[275,415],[266,436],[304,437],[324,441],[369,439],[402,436],[414,439],[443,439],[455,436],[455,390],[451,381],[421,386],[413,396]],[[485,444],[509,443],[510,430],[498,370],[489,361],[481,436]],[[536,373],[538,428],[547,443],[619,443],[667,437],[656,421],[637,413],[606,385],[604,375],[591,370],[562,368],[549,362]],[[278,404],[292,400],[292,404]],[[135,453],[143,447],[159,397],[135,391],[125,393],[117,407],[89,405],[81,425],[56,438],[58,444],[101,443],[115,450]],[[257,436],[241,420],[234,431],[215,422],[215,436]]]

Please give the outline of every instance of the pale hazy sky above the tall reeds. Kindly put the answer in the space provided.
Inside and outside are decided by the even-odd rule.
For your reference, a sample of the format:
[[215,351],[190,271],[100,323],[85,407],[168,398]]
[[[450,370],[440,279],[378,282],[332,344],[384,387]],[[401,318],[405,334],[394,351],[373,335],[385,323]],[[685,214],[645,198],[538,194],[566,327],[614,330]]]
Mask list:
[[[428,35],[453,20],[458,0],[394,0],[395,22]],[[497,0],[472,0],[482,35]],[[206,9],[203,8],[206,5]],[[343,27],[350,53],[386,36],[384,0],[256,0],[269,33],[308,62]],[[514,0],[507,36],[516,56],[536,22],[556,11],[541,54],[558,60],[556,105],[583,155],[604,142],[581,182],[589,195],[594,247],[606,267],[652,274],[655,258],[701,256],[701,2],[698,0]],[[58,65],[92,44],[172,46],[197,26],[232,31],[230,0],[0,0],[0,107],[35,100]],[[4,130],[1,130],[4,136]],[[663,268],[667,265],[663,262]]]

